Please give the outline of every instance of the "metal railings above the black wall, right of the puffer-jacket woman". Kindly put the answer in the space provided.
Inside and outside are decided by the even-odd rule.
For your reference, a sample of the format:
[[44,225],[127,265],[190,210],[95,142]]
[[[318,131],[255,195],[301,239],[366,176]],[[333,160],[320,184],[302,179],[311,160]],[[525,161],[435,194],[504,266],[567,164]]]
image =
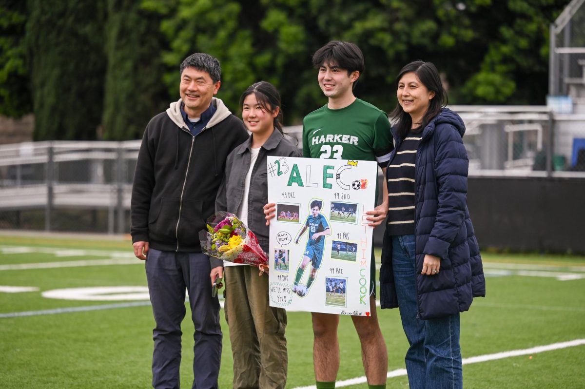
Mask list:
[[[547,106],[451,106],[466,125],[469,174],[581,177],[585,114]],[[581,153],[582,154],[582,153]]]

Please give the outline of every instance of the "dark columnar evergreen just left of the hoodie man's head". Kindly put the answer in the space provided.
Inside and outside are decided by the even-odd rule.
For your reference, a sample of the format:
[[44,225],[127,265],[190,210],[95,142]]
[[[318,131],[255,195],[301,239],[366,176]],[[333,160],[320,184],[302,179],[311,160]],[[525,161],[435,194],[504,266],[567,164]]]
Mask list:
[[168,107],[160,20],[140,2],[108,0],[105,140],[139,139],[150,118]]

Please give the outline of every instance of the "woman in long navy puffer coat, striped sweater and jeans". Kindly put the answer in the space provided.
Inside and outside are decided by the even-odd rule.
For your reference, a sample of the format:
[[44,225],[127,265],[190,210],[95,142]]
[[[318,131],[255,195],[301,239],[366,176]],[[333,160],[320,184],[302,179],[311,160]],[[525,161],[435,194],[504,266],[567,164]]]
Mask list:
[[447,97],[432,63],[409,63],[396,80],[381,308],[400,308],[411,388],[462,388],[459,312],[486,294],[467,211],[465,126],[442,108]]

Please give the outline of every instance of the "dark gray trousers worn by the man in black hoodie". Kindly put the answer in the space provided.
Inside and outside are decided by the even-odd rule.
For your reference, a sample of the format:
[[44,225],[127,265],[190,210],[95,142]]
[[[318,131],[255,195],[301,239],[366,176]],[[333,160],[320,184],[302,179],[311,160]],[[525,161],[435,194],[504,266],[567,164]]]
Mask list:
[[153,329],[152,385],[178,389],[181,364],[181,322],[185,317],[185,288],[195,325],[192,389],[218,387],[222,332],[219,301],[211,297],[209,257],[202,253],[150,249],[146,278],[156,327]]

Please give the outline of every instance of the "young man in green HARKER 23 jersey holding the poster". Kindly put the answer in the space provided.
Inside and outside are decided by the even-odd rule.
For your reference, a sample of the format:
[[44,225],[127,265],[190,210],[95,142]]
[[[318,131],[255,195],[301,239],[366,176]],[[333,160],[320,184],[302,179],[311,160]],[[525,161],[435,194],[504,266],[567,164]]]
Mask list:
[[[362,51],[353,43],[329,42],[315,52],[313,66],[319,70],[317,80],[328,102],[303,120],[303,156],[377,161],[385,177],[386,164],[394,148],[388,116],[353,95],[353,87],[364,70]],[[386,219],[388,192],[386,185],[383,188],[382,204],[366,212],[370,226],[378,226]],[[267,220],[274,217],[274,211],[274,203],[264,206]],[[368,386],[385,388],[388,355],[376,313],[376,270],[373,258],[371,270],[371,316],[352,316],[352,320],[362,345]],[[313,312],[312,322],[316,387],[335,388],[339,370],[339,315]]]

